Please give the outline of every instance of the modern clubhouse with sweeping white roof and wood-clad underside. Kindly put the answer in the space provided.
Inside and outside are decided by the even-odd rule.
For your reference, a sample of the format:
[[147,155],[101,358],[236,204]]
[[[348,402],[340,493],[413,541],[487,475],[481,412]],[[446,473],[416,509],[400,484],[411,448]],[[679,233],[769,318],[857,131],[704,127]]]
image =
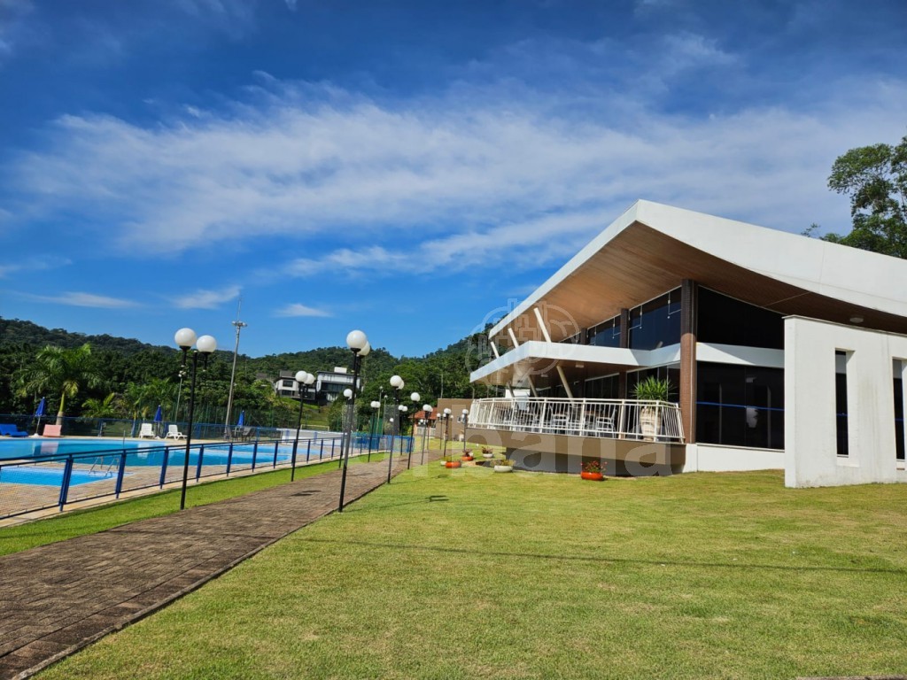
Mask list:
[[907,481],[902,259],[640,200],[488,339],[467,436],[518,468]]

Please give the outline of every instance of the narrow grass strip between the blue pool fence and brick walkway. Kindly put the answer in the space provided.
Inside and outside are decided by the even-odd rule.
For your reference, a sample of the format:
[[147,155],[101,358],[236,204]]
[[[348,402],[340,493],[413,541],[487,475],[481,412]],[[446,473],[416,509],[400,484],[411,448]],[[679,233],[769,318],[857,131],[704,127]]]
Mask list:
[[[373,461],[382,458],[383,454],[372,454]],[[351,464],[358,461],[358,458],[350,459]],[[296,479],[336,469],[336,460],[297,467]],[[289,477],[290,471],[285,469],[259,472],[222,481],[210,481],[198,486],[191,485],[186,490],[186,507],[208,505],[219,500],[242,496],[251,491],[285,484],[289,481]],[[58,540],[72,539],[75,536],[97,533],[104,529],[119,527],[127,522],[169,515],[171,512],[179,510],[180,490],[176,489],[122,500],[97,508],[74,510],[46,520],[0,528],[0,555],[43,546]]]

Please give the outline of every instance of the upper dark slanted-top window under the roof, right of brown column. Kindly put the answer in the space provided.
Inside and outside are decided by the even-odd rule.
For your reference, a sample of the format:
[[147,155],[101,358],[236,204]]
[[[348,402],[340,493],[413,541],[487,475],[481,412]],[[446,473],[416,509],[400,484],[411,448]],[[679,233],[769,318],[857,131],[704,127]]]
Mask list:
[[708,288],[699,288],[697,340],[717,345],[785,348],[784,317]]

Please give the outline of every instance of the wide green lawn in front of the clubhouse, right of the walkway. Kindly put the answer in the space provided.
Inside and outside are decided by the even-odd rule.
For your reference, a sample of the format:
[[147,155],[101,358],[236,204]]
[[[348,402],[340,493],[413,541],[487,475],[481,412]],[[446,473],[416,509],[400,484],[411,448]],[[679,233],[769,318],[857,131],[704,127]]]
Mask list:
[[907,486],[441,471],[42,678],[793,678],[907,668]]

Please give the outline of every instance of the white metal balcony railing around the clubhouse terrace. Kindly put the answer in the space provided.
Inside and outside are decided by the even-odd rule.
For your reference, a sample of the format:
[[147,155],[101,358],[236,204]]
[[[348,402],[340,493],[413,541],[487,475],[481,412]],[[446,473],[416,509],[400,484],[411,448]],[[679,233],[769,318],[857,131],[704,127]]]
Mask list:
[[476,399],[469,427],[683,442],[677,403],[631,399]]

